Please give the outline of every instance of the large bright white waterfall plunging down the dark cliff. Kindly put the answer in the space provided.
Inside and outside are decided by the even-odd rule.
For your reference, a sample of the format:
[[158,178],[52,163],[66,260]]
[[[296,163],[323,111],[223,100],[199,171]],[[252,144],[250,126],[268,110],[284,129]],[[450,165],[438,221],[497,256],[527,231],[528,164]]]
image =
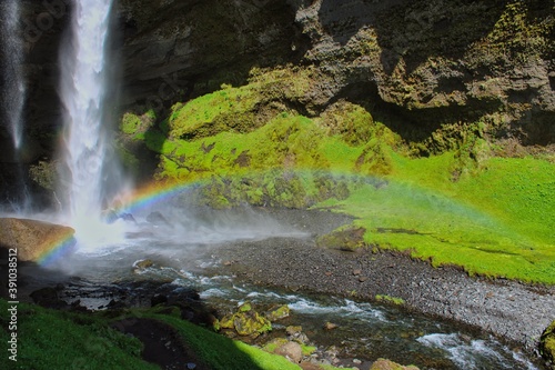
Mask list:
[[113,182],[110,120],[105,114],[107,42],[111,0],[74,1],[71,42],[61,51],[61,97],[65,108],[60,193],[68,222],[93,232]]

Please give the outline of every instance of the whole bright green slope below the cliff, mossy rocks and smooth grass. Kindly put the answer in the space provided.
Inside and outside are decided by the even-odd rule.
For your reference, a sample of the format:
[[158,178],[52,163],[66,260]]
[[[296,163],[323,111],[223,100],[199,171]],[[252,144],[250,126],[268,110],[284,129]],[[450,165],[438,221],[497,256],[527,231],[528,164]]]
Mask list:
[[[494,158],[473,134],[462,149],[410,158],[400,137],[359,106],[340,101],[312,119],[287,109],[283,101],[302,100],[310,78],[310,71],[299,70],[261,73],[245,87],[176,106],[165,130],[139,139],[161,153],[161,179],[239,178],[218,180],[212,189],[223,206],[245,197],[262,204],[266,197],[276,200],[270,204],[304,207],[321,187],[304,170],[386,180],[386,187],[350,186],[346,199],[319,206],[357,217],[370,244],[411,250],[471,273],[555,283],[553,162]],[[272,169],[296,174],[276,177],[281,172]],[[455,170],[460,176],[453,181]],[[299,199],[280,182],[296,187]]]

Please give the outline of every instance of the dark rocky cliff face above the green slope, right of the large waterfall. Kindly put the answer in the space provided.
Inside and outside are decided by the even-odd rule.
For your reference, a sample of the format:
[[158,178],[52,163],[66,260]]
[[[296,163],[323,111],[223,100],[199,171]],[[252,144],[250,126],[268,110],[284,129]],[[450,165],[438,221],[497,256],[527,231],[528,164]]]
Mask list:
[[387,114],[410,140],[477,120],[525,146],[555,137],[553,1],[122,0],[118,9],[128,107],[171,106],[291,62],[323,76],[300,107],[307,113],[345,98]]

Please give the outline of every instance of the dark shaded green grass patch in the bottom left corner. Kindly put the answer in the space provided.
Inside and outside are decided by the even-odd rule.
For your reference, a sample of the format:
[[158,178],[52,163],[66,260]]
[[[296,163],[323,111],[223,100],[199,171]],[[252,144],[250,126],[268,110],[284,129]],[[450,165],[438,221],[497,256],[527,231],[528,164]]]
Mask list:
[[[7,312],[8,307],[8,302],[0,299],[0,311]],[[8,328],[4,313],[2,328]],[[88,316],[20,303],[17,333],[18,361],[10,361],[3,353],[2,369],[158,369],[140,358],[139,340]],[[0,340],[7,343],[6,330],[0,330]]]

